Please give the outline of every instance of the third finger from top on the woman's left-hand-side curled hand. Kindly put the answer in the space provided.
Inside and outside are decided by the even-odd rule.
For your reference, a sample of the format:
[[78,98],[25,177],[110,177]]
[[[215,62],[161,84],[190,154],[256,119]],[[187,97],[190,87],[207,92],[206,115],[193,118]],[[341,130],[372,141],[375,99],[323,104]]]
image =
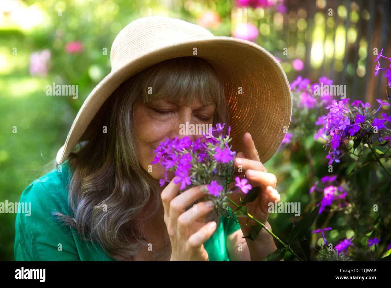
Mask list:
[[[206,203],[211,203],[210,206],[207,206]],[[181,235],[185,235],[186,239],[188,238],[188,228],[193,225],[195,220],[206,217],[214,209],[213,203],[211,201],[200,202],[195,204],[192,208],[188,209],[186,212],[183,212],[178,217],[178,232]]]

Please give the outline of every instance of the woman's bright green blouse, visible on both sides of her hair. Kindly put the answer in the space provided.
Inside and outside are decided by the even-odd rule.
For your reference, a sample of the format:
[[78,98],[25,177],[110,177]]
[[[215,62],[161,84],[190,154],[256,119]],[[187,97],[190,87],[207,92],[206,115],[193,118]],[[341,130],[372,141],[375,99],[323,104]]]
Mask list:
[[[115,261],[100,245],[83,241],[73,228],[61,225],[51,215],[54,211],[73,215],[68,203],[67,184],[71,175],[68,164],[65,161],[62,172],[53,169],[23,191],[19,202],[31,203],[31,211],[30,216],[16,214],[15,261]],[[219,222],[204,248],[209,261],[230,261],[226,237],[240,229],[240,225],[224,216]]]

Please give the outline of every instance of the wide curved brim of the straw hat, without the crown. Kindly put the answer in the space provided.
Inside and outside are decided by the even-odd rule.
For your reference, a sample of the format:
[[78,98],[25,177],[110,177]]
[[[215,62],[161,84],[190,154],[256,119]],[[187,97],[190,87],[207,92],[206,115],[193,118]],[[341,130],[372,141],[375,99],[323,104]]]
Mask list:
[[[197,55],[192,54],[194,47]],[[57,163],[65,161],[102,104],[121,83],[152,65],[187,56],[210,63],[225,83],[233,149],[244,152],[243,136],[249,132],[260,161],[268,161],[280,147],[291,120],[292,97],[286,74],[273,55],[259,45],[216,36],[159,47],[111,71],[84,101],[57,153]],[[238,94],[239,87],[242,94]]]

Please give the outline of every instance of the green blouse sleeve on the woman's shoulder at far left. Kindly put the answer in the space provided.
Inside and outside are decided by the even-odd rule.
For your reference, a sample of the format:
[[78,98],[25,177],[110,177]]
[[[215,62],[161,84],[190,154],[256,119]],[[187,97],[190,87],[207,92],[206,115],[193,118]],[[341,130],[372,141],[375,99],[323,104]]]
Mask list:
[[17,213],[14,256],[16,261],[80,261],[74,235],[51,212],[68,214],[67,197],[57,171],[31,183],[19,202],[31,203],[30,216]]

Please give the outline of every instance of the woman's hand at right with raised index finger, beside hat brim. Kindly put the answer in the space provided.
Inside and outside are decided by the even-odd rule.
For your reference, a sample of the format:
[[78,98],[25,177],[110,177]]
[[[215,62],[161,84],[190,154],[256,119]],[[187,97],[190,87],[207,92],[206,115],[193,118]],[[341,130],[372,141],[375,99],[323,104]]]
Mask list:
[[[248,207],[248,213],[253,216],[255,219],[262,223],[267,222],[269,217],[269,203],[275,204],[275,201],[280,201],[280,194],[278,194],[276,188],[276,176],[271,173],[267,173],[264,165],[260,162],[258,151],[255,148],[253,139],[251,138],[250,133],[245,133],[243,137],[244,142],[244,154],[242,152],[238,153],[233,161],[235,166],[235,172],[238,171],[238,168],[241,166],[242,172],[235,174],[239,176],[240,179],[243,178],[244,173],[246,172],[246,178],[249,180],[249,183],[252,187],[260,187],[259,195],[255,201],[247,203],[244,206]],[[228,188],[235,190],[235,183],[230,183]],[[240,198],[243,200],[246,197],[241,190]],[[237,192],[232,193],[228,196],[232,201],[240,205],[240,199]],[[228,202],[230,203],[230,202]],[[236,209],[237,207],[230,203],[231,209]],[[240,221],[240,219],[238,219]],[[246,219],[247,220],[247,219]],[[243,222],[243,221],[240,221]],[[249,219],[247,222],[248,225],[258,225],[252,219]],[[251,227],[240,225],[243,231],[243,234],[248,235],[251,232]]]

